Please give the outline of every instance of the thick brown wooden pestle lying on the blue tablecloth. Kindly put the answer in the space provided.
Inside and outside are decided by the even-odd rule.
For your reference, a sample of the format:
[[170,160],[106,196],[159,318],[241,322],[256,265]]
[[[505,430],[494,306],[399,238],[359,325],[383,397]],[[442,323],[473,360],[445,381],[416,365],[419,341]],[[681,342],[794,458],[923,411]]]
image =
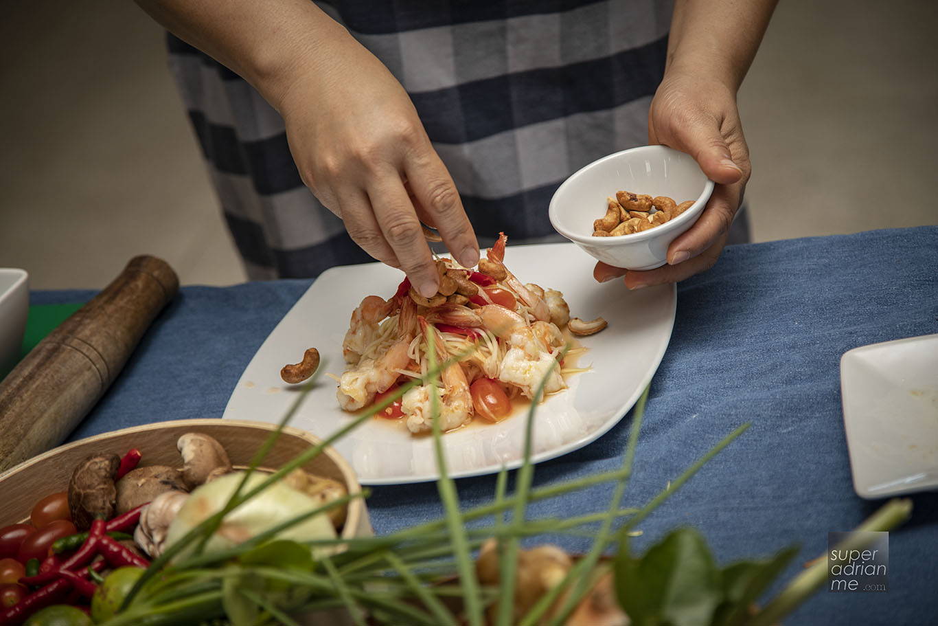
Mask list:
[[65,441],[178,291],[165,261],[135,256],[23,358],[0,383],[0,472]]

